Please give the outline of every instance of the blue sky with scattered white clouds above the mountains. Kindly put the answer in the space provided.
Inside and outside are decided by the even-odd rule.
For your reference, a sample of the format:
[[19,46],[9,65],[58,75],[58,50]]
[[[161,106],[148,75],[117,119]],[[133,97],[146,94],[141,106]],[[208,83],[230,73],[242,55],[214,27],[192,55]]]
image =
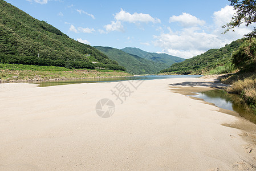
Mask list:
[[221,34],[234,14],[227,0],[7,2],[91,46],[137,47],[182,58],[223,47],[252,30],[241,26]]

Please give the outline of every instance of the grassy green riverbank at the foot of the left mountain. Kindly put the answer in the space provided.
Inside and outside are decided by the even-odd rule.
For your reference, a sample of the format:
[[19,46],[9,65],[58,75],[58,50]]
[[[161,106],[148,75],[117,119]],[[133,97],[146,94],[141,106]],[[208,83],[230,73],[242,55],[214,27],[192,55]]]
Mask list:
[[30,66],[23,64],[1,64],[0,82],[27,82],[76,78],[99,78],[132,76],[124,71],[112,70],[70,70],[54,66]]

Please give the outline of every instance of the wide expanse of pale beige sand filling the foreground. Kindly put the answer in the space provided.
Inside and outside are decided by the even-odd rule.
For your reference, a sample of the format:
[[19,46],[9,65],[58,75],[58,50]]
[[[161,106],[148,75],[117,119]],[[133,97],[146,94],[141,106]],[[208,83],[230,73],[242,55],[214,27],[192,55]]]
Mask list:
[[[0,84],[0,170],[256,170],[254,124],[170,91],[209,81]],[[104,98],[115,104],[105,119]]]

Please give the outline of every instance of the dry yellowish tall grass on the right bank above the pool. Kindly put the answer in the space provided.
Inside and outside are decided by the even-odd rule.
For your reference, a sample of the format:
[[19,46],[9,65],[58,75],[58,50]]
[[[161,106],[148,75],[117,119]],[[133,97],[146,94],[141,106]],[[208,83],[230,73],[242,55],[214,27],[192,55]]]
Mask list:
[[227,89],[228,92],[241,95],[242,99],[254,109],[256,113],[256,73],[247,72],[230,75],[227,78],[221,78],[224,84],[231,84]]

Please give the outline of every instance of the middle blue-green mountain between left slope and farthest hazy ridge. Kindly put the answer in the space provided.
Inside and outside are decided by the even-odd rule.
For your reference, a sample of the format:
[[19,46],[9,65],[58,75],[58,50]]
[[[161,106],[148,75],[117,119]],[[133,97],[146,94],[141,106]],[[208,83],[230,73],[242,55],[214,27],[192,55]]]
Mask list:
[[107,55],[108,58],[116,60],[131,74],[155,74],[169,67],[167,64],[153,62],[137,55],[127,54],[116,48],[102,46],[96,46],[95,48]]

